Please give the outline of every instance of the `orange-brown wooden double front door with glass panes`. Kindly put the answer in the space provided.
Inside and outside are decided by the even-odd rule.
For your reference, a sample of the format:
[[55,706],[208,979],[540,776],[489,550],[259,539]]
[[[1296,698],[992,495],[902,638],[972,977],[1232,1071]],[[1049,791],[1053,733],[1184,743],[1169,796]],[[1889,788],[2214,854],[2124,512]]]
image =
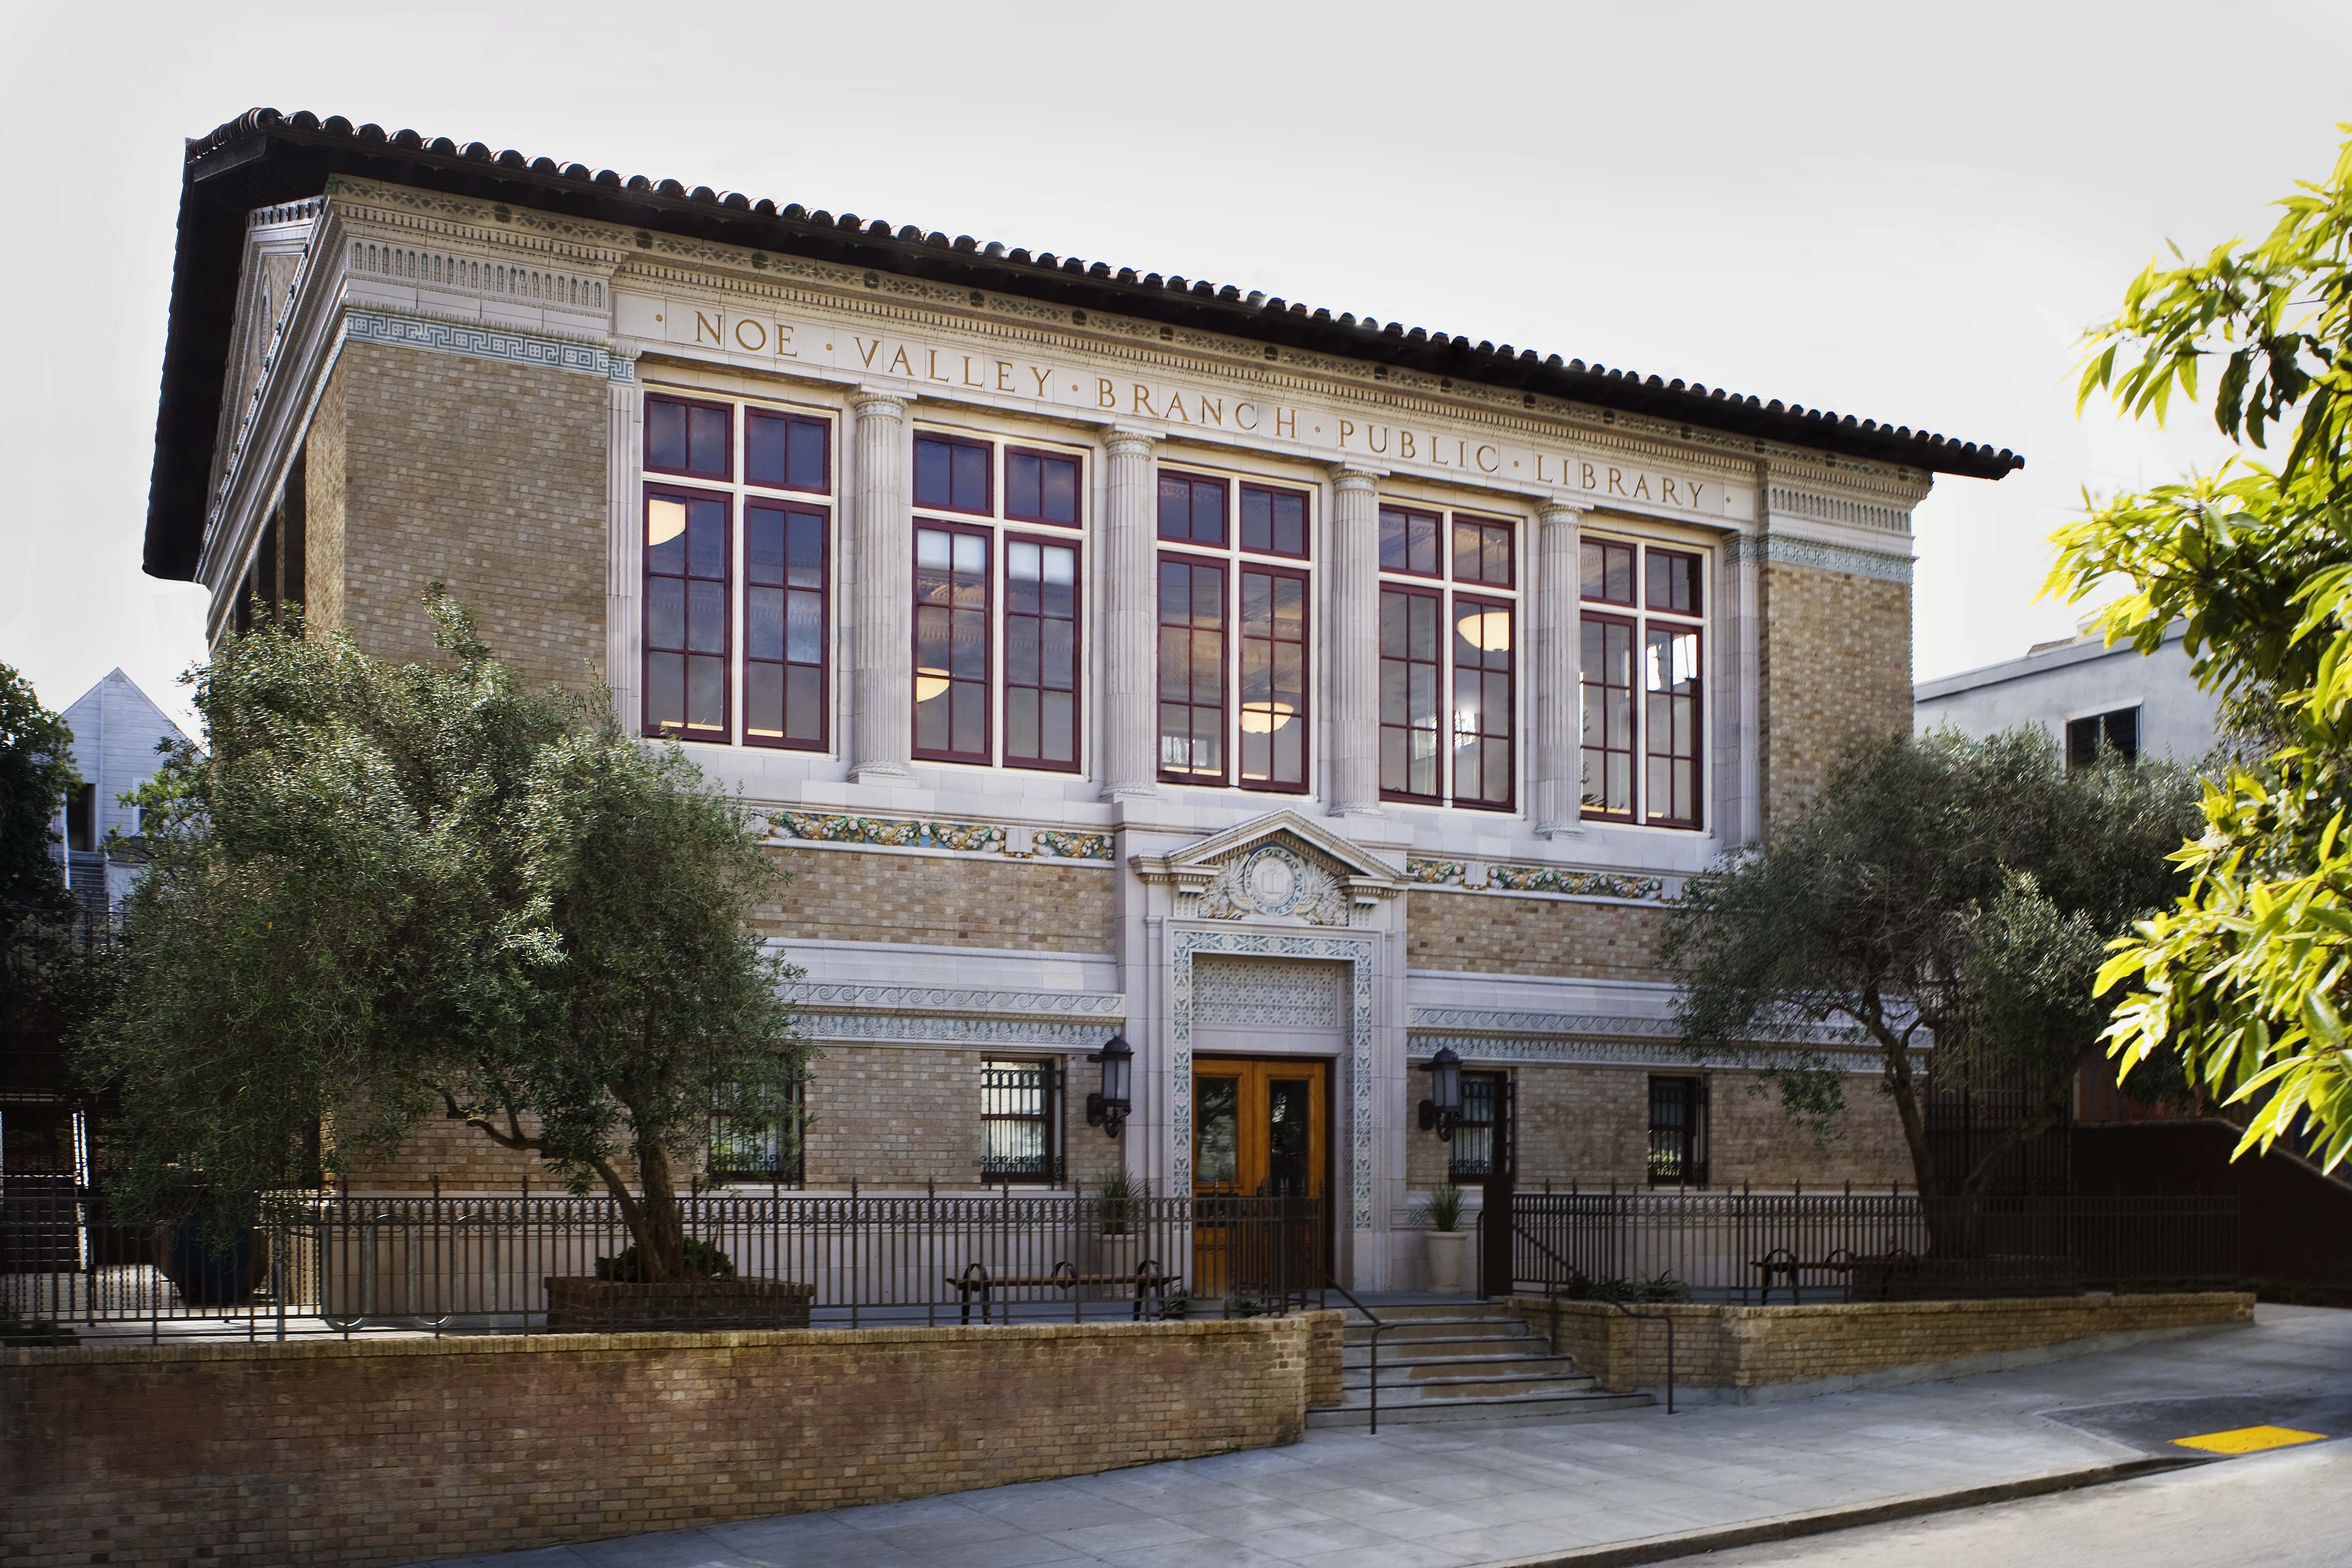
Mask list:
[[1312,1058],[1192,1063],[1192,1288],[1305,1291],[1329,1253],[1329,1074]]

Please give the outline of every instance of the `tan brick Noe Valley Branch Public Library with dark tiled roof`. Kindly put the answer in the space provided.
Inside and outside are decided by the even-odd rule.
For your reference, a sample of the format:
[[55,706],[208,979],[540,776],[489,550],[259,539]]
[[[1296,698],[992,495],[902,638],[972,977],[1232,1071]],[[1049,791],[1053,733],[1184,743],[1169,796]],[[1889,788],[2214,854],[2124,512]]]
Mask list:
[[388,656],[445,581],[769,811],[823,1058],[729,1180],[1303,1190],[1411,1284],[1439,1046],[1465,1175],[1508,1077],[1524,1182],[1910,1180],[1679,1048],[1661,905],[1905,726],[1912,508],[2009,451],[341,118],[179,235],[148,571]]

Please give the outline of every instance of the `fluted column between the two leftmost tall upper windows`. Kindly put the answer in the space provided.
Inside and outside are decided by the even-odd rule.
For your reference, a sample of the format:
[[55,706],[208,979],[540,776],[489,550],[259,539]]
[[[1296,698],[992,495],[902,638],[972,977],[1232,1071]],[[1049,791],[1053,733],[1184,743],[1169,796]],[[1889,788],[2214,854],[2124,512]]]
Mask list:
[[915,724],[910,621],[915,614],[913,522],[906,503],[906,397],[858,390],[856,529],[851,536],[849,778],[908,778]]

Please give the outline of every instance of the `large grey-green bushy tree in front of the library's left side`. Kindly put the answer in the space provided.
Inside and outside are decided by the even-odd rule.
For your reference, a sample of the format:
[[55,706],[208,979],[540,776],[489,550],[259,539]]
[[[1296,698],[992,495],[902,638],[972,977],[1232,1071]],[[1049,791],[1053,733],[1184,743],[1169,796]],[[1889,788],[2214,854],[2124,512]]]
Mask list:
[[684,1276],[680,1161],[807,1056],[748,929],[781,870],[675,745],[527,689],[428,604],[447,665],[287,618],[198,675],[209,755],[146,790],[127,973],[87,1030],[122,1194],[240,1225],[322,1124],[343,1157],[437,1114],[602,1185],[637,1276]]

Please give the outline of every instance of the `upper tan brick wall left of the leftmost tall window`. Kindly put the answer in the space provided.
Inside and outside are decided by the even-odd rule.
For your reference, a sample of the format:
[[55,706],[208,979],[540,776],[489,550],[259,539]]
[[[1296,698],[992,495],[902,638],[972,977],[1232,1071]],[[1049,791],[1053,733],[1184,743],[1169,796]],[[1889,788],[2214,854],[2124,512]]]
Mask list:
[[572,371],[348,343],[310,435],[320,621],[430,658],[423,590],[442,581],[501,658],[586,686],[604,665],[607,400]]

